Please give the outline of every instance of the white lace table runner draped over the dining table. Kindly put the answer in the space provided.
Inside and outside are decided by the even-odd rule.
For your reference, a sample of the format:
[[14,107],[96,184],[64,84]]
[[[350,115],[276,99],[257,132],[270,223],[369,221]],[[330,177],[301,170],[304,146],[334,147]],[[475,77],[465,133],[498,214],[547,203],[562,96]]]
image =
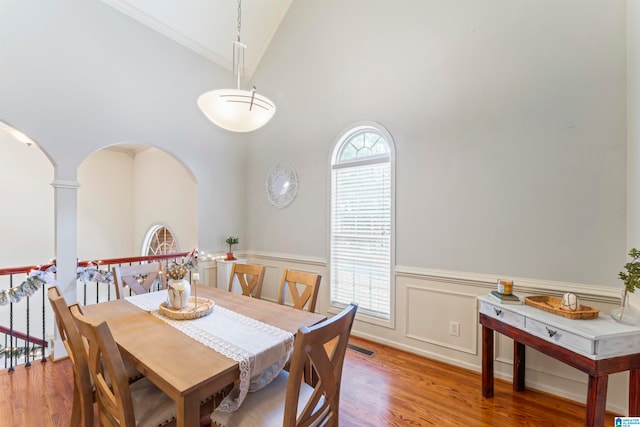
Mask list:
[[126,300],[169,325],[235,360],[240,365],[240,384],[216,409],[237,410],[248,391],[259,390],[273,380],[293,351],[293,334],[215,305],[213,312],[193,320],[174,320],[160,313],[167,291],[127,297]]

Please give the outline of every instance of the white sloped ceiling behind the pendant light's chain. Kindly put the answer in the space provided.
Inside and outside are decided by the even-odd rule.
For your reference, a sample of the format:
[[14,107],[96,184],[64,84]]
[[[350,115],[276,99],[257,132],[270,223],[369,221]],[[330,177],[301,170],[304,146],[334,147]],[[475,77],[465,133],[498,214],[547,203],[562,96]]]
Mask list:
[[[102,0],[232,71],[237,0]],[[243,0],[245,77],[250,79],[293,0]]]

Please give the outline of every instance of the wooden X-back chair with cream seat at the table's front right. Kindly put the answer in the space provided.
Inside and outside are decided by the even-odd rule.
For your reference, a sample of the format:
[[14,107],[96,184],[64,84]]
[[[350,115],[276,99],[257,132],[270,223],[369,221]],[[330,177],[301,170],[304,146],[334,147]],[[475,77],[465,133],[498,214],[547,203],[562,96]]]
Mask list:
[[[291,371],[281,371],[265,388],[249,393],[237,411],[214,411],[211,416],[214,425],[337,427],[342,368],[357,309],[357,305],[351,304],[331,319],[300,328]],[[335,344],[325,345],[330,342]],[[314,387],[302,381],[309,363],[319,378]]]

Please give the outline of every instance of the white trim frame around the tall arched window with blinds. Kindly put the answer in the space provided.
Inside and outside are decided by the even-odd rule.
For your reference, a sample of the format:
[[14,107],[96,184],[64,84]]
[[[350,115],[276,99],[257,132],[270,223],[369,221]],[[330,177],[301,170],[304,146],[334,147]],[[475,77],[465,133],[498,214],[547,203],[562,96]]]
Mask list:
[[[363,130],[373,130],[375,132],[380,133],[387,144],[389,145],[389,153],[385,155],[371,156],[362,159],[354,159],[352,161],[342,161],[338,164],[335,164],[337,158],[340,154],[340,147],[350,137],[353,136],[354,133],[361,132]],[[360,121],[351,124],[344,128],[341,132],[338,133],[338,136],[335,138],[333,142],[332,149],[329,153],[329,173],[327,174],[327,206],[328,206],[328,215],[327,215],[327,259],[329,260],[329,264],[331,263],[331,244],[332,244],[332,214],[331,210],[332,206],[332,175],[333,170],[337,168],[344,167],[353,167],[357,165],[367,165],[367,164],[375,164],[381,163],[382,161],[389,159],[390,165],[390,194],[391,194],[391,239],[390,239],[390,259],[389,259],[389,319],[383,319],[381,317],[372,316],[366,314],[364,312],[358,312],[356,317],[359,321],[370,323],[376,326],[382,326],[385,328],[395,329],[396,325],[396,274],[395,274],[395,266],[396,266],[396,147],[395,141],[391,136],[391,133],[380,123],[375,121]],[[328,274],[329,274],[329,286],[331,286],[331,265],[328,265]],[[329,290],[331,292],[331,290]],[[327,309],[330,314],[339,313],[343,307],[339,305],[331,304],[331,297],[329,297],[329,308]]]

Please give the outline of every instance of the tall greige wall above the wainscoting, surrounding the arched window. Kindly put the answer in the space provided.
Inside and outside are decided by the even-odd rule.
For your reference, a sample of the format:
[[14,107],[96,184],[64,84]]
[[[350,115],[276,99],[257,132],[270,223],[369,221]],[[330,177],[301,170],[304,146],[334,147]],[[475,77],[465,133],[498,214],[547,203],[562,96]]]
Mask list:
[[[251,248],[326,259],[330,152],[373,120],[399,265],[619,286],[625,37],[622,0],[294,2],[255,77],[278,113],[250,136]],[[300,176],[283,210],[278,162]]]

